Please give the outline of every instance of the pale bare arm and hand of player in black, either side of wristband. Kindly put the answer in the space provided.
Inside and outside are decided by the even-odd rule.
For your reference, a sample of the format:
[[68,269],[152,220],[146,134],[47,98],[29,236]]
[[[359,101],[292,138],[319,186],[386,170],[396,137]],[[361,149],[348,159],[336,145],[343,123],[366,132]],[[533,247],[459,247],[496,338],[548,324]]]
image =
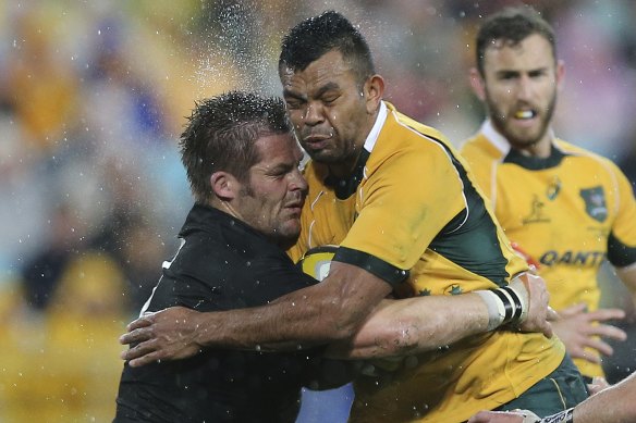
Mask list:
[[[552,336],[549,321],[556,314],[548,308],[550,296],[540,277],[519,278],[527,291],[528,315],[524,332]],[[368,359],[418,353],[489,331],[489,310],[476,294],[383,300],[348,340],[333,343],[327,356]]]

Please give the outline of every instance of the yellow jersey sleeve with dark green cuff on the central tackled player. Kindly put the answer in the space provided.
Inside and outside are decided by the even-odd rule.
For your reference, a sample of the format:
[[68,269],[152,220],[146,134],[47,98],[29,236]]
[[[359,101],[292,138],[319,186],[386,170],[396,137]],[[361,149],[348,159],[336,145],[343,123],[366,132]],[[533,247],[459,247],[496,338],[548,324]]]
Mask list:
[[391,283],[407,276],[403,271],[465,207],[460,175],[437,145],[388,158],[364,182],[358,200],[359,214],[334,260]]

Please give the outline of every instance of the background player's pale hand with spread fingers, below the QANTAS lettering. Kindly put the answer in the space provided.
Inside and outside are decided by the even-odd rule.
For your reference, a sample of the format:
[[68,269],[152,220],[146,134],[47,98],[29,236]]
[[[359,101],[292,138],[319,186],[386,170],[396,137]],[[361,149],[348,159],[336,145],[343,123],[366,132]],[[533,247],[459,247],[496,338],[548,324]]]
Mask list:
[[565,349],[572,358],[584,359],[590,363],[600,363],[600,357],[590,353],[587,348],[597,350],[604,356],[611,356],[614,350],[609,344],[595,336],[602,336],[616,340],[625,340],[627,334],[612,325],[600,324],[608,320],[624,319],[625,312],[621,309],[599,309],[586,312],[584,303],[568,307],[559,312],[560,319],[552,323],[554,332],[565,344]]

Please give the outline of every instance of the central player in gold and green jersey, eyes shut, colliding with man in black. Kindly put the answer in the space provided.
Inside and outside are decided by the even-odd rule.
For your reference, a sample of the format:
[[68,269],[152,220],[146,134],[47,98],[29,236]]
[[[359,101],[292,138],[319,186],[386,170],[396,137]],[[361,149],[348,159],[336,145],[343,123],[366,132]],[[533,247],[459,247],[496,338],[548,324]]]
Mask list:
[[[329,275],[267,307],[142,318],[122,337],[142,341],[123,354],[131,365],[207,346],[347,339],[394,288],[448,298],[505,289],[527,272],[445,137],[382,101],[384,82],[344,16],[326,12],[295,26],[283,39],[279,74],[296,135],[313,158],[292,256],[339,245]],[[545,415],[587,396],[563,344],[535,333],[496,331],[368,364],[354,381],[353,422],[452,423],[481,409]]]

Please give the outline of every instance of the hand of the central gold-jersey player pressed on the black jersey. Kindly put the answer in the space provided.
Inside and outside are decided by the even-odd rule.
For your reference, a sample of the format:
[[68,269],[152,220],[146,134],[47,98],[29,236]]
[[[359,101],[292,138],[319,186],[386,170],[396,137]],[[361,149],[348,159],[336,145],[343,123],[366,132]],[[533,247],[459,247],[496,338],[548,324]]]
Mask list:
[[197,318],[201,313],[183,307],[171,307],[131,322],[120,344],[137,344],[121,353],[129,365],[136,368],[160,360],[176,360],[201,351],[196,343]]

